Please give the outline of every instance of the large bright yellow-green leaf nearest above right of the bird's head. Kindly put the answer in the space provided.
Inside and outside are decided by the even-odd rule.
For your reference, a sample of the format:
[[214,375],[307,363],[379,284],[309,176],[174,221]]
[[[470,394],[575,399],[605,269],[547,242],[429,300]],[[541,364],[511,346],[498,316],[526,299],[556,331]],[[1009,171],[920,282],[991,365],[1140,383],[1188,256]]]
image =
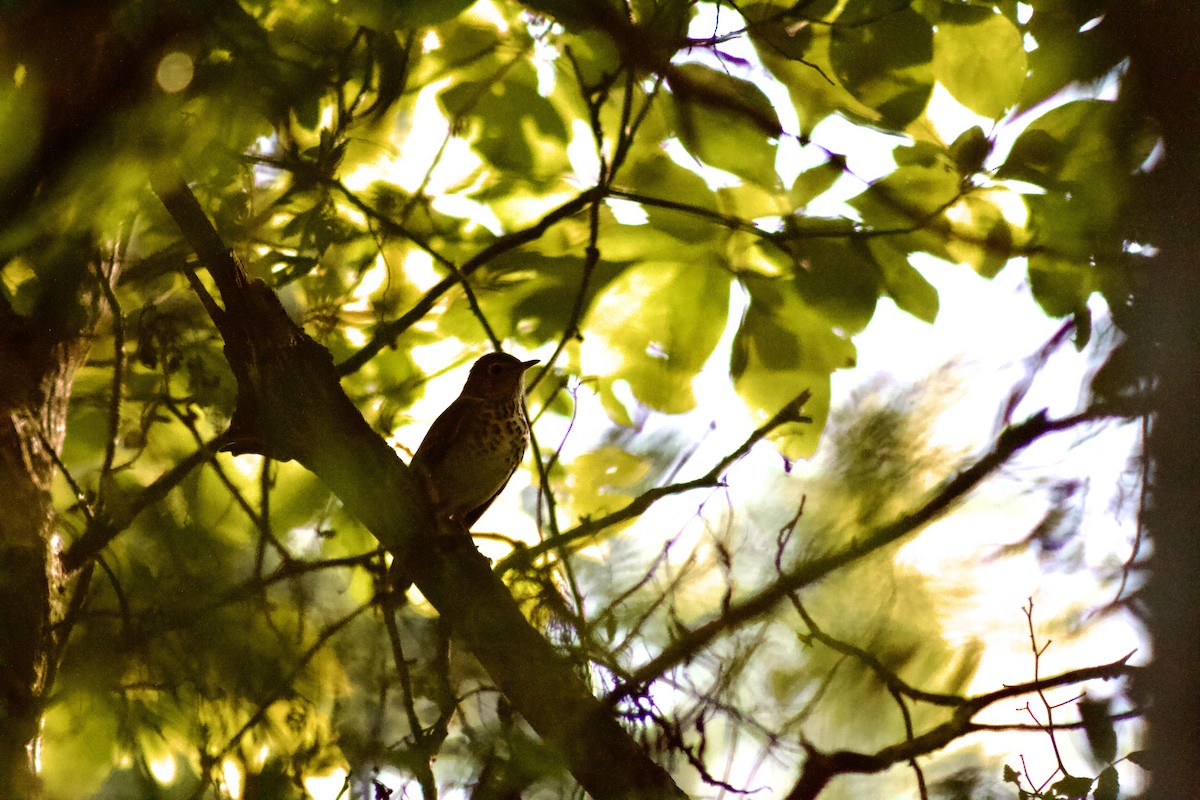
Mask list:
[[[601,383],[629,383],[638,402],[666,414],[696,405],[691,381],[708,361],[728,317],[730,277],[703,263],[659,261],[623,272],[588,312],[588,362],[611,360]],[[614,398],[613,398],[614,399]],[[617,417],[614,417],[617,419]]]

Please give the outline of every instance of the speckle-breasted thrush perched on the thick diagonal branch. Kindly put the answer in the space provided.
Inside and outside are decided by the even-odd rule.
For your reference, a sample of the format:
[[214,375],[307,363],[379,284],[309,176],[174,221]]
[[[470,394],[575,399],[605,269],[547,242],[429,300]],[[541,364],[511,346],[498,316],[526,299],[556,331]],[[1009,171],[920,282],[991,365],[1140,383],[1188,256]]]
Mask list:
[[434,511],[469,530],[504,489],[524,457],[529,421],[524,372],[536,361],[490,353],[433,421],[413,455]]

